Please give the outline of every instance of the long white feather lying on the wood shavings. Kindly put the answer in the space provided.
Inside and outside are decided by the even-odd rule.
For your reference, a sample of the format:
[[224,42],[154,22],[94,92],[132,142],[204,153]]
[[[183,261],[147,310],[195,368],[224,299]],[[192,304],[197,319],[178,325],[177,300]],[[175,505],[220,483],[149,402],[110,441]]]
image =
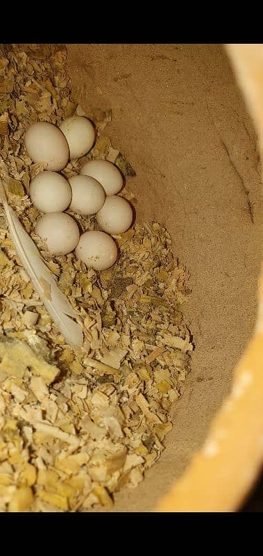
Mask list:
[[71,307],[67,297],[60,291],[51,271],[45,265],[33,240],[28,236],[17,215],[8,205],[6,192],[0,180],[0,196],[10,230],[12,243],[35,291],[42,299],[46,311],[56,323],[65,341],[72,346],[83,345],[83,330],[72,318],[76,311]]

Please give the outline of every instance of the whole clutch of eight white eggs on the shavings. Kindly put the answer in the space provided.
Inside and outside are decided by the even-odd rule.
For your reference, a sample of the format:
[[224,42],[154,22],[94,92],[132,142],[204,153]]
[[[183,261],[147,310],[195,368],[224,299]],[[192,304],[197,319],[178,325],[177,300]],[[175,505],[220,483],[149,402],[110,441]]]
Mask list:
[[[105,160],[85,163],[80,174],[65,179],[58,173],[67,162],[87,154],[94,145],[92,123],[83,116],[68,117],[60,129],[48,122],[35,122],[25,133],[28,155],[46,169],[30,183],[31,201],[44,213],[35,232],[54,255],[75,250],[78,259],[96,270],[110,268],[117,259],[112,235],[124,233],[133,222],[130,204],[117,193],[123,186],[117,166]],[[102,231],[80,235],[74,218],[64,211],[83,216],[96,215]]]

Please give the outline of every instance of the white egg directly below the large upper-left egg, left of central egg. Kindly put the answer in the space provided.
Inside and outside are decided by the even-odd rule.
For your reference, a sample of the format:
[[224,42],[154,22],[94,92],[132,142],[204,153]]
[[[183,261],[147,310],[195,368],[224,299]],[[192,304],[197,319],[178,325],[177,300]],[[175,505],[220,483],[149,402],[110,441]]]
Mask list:
[[37,174],[30,183],[31,201],[42,213],[66,210],[72,198],[71,187],[63,176],[51,170]]

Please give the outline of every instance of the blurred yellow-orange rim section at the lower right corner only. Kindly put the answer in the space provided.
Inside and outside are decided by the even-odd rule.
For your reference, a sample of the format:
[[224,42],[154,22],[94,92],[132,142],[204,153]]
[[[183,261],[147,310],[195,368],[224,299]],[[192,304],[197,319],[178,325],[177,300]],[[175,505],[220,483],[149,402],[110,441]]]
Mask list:
[[217,412],[203,449],[156,511],[233,512],[244,501],[263,459],[262,351],[261,333],[239,362],[232,393]]

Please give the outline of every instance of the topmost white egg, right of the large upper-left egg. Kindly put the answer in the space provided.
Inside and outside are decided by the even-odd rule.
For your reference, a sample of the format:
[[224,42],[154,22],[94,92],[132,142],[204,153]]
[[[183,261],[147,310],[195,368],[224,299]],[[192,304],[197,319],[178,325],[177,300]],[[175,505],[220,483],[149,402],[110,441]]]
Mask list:
[[80,158],[90,151],[95,139],[95,131],[92,122],[84,116],[67,117],[60,130],[64,133],[69,144],[70,159]]

